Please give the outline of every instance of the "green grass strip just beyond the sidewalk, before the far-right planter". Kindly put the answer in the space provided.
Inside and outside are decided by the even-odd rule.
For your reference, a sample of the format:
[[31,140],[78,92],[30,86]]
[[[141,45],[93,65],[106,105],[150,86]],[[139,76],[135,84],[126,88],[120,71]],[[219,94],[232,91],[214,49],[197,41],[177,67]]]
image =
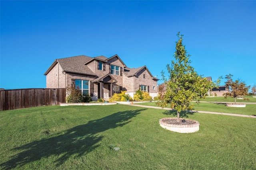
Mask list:
[[[246,107],[227,107],[226,104],[220,103],[204,103],[200,102],[199,104],[196,102],[192,102],[194,104],[193,110],[198,111],[213,111],[220,113],[234,113],[241,115],[255,115],[256,114],[256,104],[246,104]],[[139,105],[144,106],[157,106],[155,102],[148,103],[140,103]]]

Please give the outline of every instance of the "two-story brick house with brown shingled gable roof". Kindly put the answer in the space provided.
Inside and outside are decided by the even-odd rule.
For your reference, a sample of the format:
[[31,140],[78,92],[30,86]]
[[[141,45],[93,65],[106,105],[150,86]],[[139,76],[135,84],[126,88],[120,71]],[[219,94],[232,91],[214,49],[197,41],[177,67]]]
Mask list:
[[133,97],[139,88],[153,98],[158,94],[159,79],[152,76],[146,66],[128,68],[118,55],[56,59],[44,75],[46,88],[66,88],[75,84],[83,94],[90,94],[92,100],[108,100],[120,91]]

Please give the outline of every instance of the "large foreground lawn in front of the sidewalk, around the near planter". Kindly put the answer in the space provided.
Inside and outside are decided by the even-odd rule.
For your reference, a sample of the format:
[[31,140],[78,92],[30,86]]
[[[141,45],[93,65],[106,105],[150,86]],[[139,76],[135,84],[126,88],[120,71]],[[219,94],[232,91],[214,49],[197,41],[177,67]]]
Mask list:
[[[161,109],[47,106],[0,112],[7,169],[256,169],[254,118],[194,113],[200,130],[163,129]],[[120,150],[111,149],[112,146]]]

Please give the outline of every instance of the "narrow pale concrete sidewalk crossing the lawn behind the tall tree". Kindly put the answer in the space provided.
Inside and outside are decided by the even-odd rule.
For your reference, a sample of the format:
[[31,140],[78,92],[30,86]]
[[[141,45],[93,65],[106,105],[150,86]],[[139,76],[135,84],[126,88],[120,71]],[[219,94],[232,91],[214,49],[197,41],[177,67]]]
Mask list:
[[[147,107],[147,108],[153,108],[153,109],[165,109],[165,110],[173,110],[171,108],[168,107],[156,107],[156,106],[144,106],[144,105],[138,105],[138,104],[129,104],[130,106],[137,106],[137,107]],[[252,116],[252,115],[240,115],[240,114],[233,114],[233,113],[220,113],[220,112],[213,112],[213,111],[196,111],[193,110],[191,112],[195,112],[195,113],[210,113],[210,114],[217,114],[217,115],[229,115],[229,116],[240,116],[240,117],[252,117],[252,118],[256,118],[256,116]]]

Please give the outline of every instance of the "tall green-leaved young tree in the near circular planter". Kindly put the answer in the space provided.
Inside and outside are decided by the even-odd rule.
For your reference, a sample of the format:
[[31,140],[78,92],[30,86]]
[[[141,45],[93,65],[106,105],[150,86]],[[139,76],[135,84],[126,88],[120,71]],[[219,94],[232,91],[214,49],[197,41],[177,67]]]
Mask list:
[[[180,121],[180,112],[191,110],[194,105],[191,104],[192,100],[204,98],[208,90],[216,86],[216,83],[202,78],[190,66],[190,55],[187,55],[185,45],[182,44],[183,35],[180,32],[177,34],[178,41],[176,41],[176,51],[174,53],[175,61],[172,65],[167,64],[169,73],[169,80],[166,80],[164,71],[162,77],[166,84],[166,93],[164,99],[158,102],[159,106],[166,107],[168,104],[177,110],[177,122]],[[217,81],[219,82],[219,80]]]

